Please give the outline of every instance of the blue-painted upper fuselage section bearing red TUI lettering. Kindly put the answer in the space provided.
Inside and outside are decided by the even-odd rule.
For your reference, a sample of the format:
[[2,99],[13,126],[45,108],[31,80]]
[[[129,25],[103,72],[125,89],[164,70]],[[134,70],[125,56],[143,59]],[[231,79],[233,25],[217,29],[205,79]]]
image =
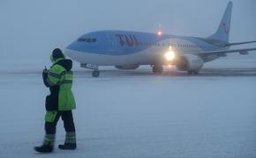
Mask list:
[[[157,34],[147,33],[147,32],[125,32],[125,31],[89,32],[87,34],[82,35],[79,38],[97,39],[97,41],[92,43],[74,41],[71,45],[67,47],[67,49],[71,49],[71,50],[75,50],[83,53],[90,53],[90,54],[127,55],[127,54],[136,54],[149,47],[153,47],[155,43],[159,43],[165,39],[188,40],[198,45],[200,48],[202,48],[205,51],[212,51],[217,48],[198,38],[174,36],[174,35],[167,35],[167,34],[158,36]],[[144,44],[140,45],[141,43],[144,43]]]

